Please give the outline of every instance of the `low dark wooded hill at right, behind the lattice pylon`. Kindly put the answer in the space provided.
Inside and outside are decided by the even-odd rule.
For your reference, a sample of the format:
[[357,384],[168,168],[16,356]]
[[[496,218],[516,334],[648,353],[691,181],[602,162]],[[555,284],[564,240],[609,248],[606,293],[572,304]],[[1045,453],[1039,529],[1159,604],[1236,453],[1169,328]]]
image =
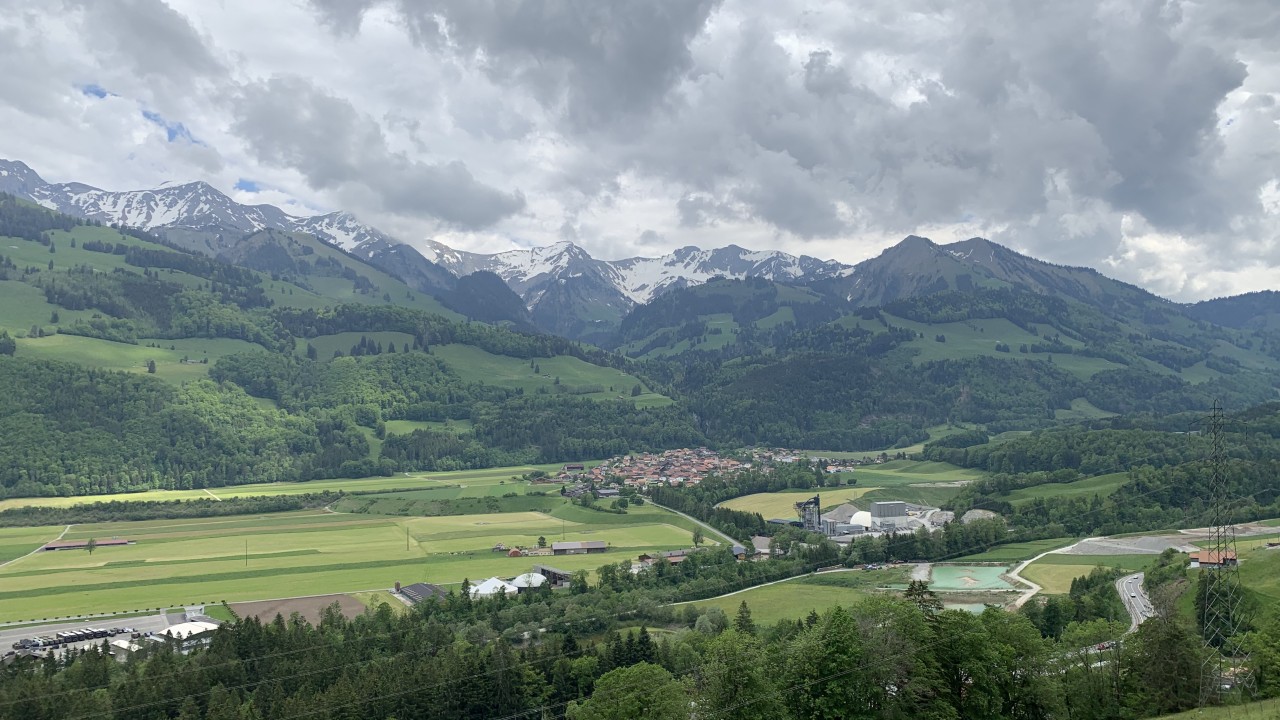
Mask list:
[[[993,510],[1042,537],[1197,527],[1210,521],[1213,500],[1206,460],[1211,441],[1198,420],[1193,414],[1100,420],[1001,443],[931,443],[924,456],[992,473],[964,489],[954,502],[957,511]],[[1235,415],[1228,429],[1231,516],[1280,515],[1280,405]],[[1034,496],[1021,492],[1037,487],[1042,492]]]

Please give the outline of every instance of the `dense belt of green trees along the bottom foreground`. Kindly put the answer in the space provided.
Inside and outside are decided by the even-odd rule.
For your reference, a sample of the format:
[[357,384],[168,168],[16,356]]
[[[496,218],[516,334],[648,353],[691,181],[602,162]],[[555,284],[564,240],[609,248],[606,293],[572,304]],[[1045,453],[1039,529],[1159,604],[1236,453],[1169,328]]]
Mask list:
[[[812,570],[820,552],[748,564],[701,552],[678,570],[639,575],[607,565],[596,588],[579,573],[568,592],[451,592],[410,612],[381,605],[353,619],[334,607],[316,625],[251,618],[189,655],[160,646],[124,664],[96,650],[14,664],[0,707],[50,720],[1101,720],[1183,711],[1199,698],[1201,642],[1176,614],[1100,650],[1114,623],[1070,621],[1044,637],[1024,614],[941,610],[923,583],[906,600],[867,597],[773,625],[745,602],[733,614],[669,605]],[[1110,589],[1110,577],[1098,584]],[[1275,694],[1280,624],[1260,623],[1251,638],[1256,676],[1267,679],[1258,688]]]

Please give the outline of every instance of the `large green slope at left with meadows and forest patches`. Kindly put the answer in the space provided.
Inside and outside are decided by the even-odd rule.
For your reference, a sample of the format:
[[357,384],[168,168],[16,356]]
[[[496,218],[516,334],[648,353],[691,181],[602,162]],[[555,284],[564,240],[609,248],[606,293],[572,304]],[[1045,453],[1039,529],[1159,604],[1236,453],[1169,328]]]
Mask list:
[[306,234],[252,233],[211,259],[8,201],[0,299],[0,496],[704,442],[625,359],[467,322]]

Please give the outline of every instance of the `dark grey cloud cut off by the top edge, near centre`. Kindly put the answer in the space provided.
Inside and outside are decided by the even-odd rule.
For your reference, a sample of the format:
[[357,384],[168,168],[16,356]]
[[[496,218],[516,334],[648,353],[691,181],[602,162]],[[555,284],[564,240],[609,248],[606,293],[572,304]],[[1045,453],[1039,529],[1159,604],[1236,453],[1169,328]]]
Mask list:
[[[690,41],[719,0],[401,0],[413,38],[518,86],[577,129],[644,115],[690,68]],[[351,31],[370,1],[312,0]]]

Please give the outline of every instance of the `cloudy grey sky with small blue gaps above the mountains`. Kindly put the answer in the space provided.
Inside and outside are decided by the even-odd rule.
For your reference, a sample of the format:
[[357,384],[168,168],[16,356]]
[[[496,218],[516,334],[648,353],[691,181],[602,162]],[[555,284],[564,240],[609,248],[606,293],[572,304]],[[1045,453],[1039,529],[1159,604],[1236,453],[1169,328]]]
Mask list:
[[[956,9],[956,8],[963,9]],[[413,242],[1280,288],[1280,4],[0,0],[0,156]]]

